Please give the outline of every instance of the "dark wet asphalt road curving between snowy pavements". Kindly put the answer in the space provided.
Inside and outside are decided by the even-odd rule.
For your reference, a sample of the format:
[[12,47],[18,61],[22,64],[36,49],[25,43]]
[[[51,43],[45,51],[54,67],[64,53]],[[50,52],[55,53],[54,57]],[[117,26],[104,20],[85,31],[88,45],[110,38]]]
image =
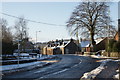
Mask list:
[[59,55],[61,61],[34,70],[17,72],[3,76],[5,79],[80,79],[85,72],[89,72],[100,65],[97,59],[87,56]]

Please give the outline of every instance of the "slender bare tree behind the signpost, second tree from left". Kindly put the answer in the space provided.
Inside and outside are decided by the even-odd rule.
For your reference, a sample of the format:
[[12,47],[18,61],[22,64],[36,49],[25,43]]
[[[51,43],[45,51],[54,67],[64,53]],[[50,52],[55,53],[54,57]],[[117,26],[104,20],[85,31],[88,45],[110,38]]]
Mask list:
[[25,43],[26,39],[28,38],[28,28],[27,28],[27,21],[24,17],[19,18],[15,23],[15,40],[21,40],[21,47],[25,51]]

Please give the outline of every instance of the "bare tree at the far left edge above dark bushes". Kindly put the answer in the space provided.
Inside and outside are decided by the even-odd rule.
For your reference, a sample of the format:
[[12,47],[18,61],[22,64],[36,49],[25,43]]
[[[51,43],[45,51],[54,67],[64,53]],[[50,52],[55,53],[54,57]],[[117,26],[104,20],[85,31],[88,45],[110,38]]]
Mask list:
[[7,21],[0,18],[0,28],[2,33],[0,43],[2,43],[2,54],[12,54],[14,50],[13,35],[10,28],[7,26]]

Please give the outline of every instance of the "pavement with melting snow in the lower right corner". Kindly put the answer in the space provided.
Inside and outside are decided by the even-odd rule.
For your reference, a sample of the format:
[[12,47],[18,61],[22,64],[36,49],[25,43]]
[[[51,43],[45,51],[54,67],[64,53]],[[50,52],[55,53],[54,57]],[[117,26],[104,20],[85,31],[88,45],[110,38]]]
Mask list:
[[100,59],[97,62],[101,62],[101,65],[90,72],[84,73],[81,80],[119,80],[120,59],[96,55],[89,56]]

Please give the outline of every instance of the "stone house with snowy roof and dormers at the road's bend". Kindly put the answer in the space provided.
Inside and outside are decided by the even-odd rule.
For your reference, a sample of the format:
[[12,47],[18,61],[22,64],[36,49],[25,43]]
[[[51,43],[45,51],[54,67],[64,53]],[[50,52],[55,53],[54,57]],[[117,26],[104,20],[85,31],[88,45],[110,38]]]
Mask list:
[[43,54],[54,55],[54,54],[75,54],[79,51],[79,46],[75,43],[75,40],[56,40],[51,41],[43,49]]

